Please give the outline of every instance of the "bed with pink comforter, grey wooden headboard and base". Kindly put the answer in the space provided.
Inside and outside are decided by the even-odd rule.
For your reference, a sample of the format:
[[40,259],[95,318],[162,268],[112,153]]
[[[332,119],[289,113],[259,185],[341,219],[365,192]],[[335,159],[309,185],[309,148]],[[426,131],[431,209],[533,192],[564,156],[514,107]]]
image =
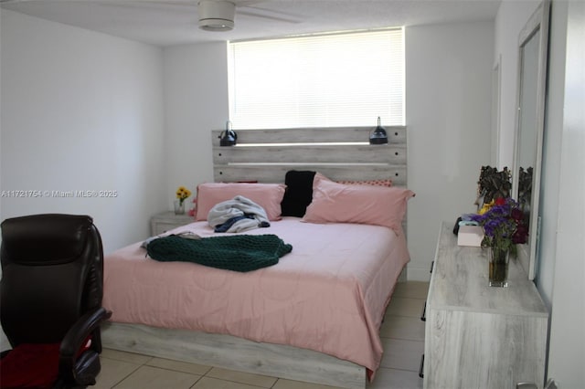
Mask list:
[[[364,144],[370,130],[239,131],[236,147],[218,146],[213,131],[215,181],[283,183],[287,172],[303,170],[319,172],[325,188],[391,177],[398,191],[406,186],[406,129],[388,129],[383,146]],[[113,311],[104,347],[364,388],[382,356],[384,311],[410,258],[406,222],[348,223],[346,214],[343,222],[315,222],[311,216],[323,215],[307,208],[304,217],[272,217],[270,227],[244,232],[293,247],[278,264],[251,272],[155,261],[142,242],[113,252],[104,262],[103,305]],[[205,220],[166,235],[182,233],[218,237]]]

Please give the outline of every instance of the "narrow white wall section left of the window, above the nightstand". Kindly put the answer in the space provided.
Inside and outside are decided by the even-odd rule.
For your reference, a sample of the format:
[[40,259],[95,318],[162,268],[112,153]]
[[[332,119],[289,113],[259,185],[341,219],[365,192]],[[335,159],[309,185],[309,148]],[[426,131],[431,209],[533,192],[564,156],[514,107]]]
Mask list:
[[185,185],[196,195],[197,184],[213,181],[211,130],[229,120],[228,48],[166,47],[164,58],[166,192]]

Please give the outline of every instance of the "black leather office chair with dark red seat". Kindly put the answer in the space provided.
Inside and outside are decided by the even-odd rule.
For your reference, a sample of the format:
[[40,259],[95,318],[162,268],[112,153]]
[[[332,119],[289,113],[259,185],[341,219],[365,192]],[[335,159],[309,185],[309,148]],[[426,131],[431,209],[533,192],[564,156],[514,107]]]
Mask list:
[[103,249],[90,216],[33,215],[2,225],[0,321],[12,350],[0,387],[78,388],[100,373]]

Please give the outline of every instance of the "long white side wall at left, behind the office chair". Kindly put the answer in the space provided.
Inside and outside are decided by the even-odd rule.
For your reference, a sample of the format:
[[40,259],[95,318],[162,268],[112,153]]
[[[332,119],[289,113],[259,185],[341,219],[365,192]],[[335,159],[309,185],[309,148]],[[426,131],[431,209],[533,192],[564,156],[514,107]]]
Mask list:
[[[1,11],[0,218],[93,216],[104,250],[164,210],[162,50]],[[14,197],[10,191],[40,191]],[[116,191],[58,198],[52,191]],[[49,194],[49,195],[48,195]]]

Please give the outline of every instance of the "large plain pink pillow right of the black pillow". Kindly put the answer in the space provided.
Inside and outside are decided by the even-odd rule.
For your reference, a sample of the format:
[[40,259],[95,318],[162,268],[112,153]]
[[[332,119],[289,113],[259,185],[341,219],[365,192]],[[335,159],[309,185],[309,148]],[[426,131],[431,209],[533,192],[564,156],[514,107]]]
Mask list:
[[407,203],[414,192],[398,186],[346,185],[315,174],[313,202],[303,221],[387,226],[401,231]]

